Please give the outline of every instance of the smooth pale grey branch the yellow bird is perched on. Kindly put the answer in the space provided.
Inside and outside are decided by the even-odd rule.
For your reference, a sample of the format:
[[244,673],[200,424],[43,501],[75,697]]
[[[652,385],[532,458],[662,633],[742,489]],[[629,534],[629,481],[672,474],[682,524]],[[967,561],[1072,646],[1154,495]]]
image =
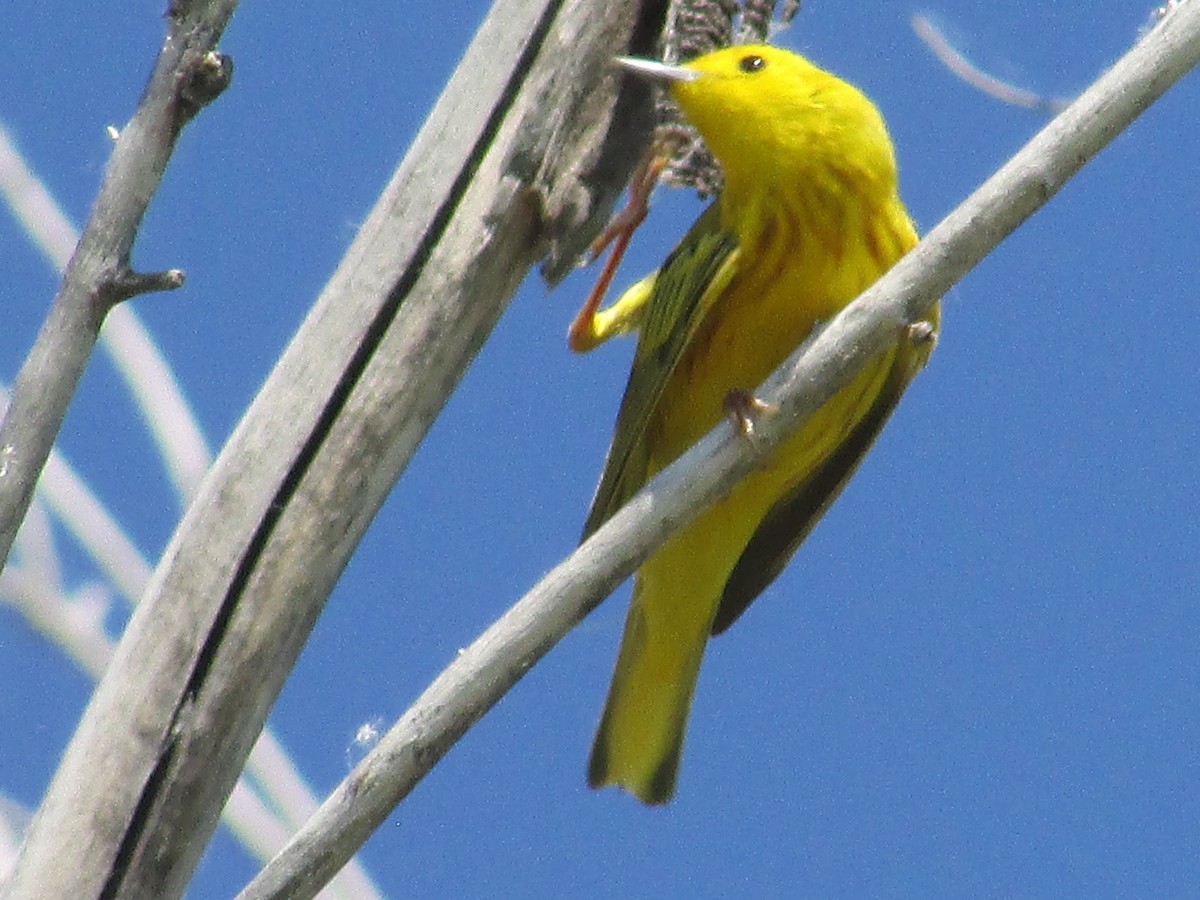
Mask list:
[[718,426],[462,650],[239,900],[311,896],[450,746],[667,536],[722,496],[1200,59],[1183,4],[916,250],[797,352],[758,396],[757,451]]

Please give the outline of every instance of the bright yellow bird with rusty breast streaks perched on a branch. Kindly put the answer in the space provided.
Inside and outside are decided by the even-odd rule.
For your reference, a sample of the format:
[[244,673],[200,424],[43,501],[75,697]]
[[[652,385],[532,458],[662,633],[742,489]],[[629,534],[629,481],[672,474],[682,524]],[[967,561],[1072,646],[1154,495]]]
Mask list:
[[[572,346],[640,340],[587,538],[917,242],[875,106],[793,53],[730,47],[682,66],[618,60],[664,82],[721,164],[725,186],[662,268]],[[643,803],[674,793],[710,634],[779,575],[834,500],[934,346],[898,335],[847,388],[637,571],[588,782]]]

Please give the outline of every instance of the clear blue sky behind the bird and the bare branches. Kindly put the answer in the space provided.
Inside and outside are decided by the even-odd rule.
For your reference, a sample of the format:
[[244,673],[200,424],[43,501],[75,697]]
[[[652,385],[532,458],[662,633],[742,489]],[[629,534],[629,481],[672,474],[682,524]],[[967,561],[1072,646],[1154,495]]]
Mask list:
[[[82,222],[161,4],[22,4],[0,120]],[[217,446],[331,274],[485,6],[245,4],[233,88],[188,127],[134,251],[186,287],[139,314]],[[929,228],[1045,121],[946,72],[1049,95],[1135,38],[1140,2],[805,5],[780,43],[862,86]],[[434,37],[436,35],[436,37]],[[628,599],[557,647],[367,844],[389,895],[1183,895],[1200,882],[1200,86],[1184,79],[947,298],[942,342],[774,587],[709,649],[679,793],[583,766]],[[618,281],[700,205],[661,192]],[[0,378],[56,284],[0,216]],[[318,792],[574,546],[631,344],[565,329],[593,274],[530,278],[348,566],[271,722]],[[61,448],[150,557],[178,516],[97,356]],[[83,560],[72,562],[80,580]],[[74,569],[78,569],[74,572]],[[0,608],[0,792],[34,805],[88,679]],[[192,895],[253,863],[218,833]]]

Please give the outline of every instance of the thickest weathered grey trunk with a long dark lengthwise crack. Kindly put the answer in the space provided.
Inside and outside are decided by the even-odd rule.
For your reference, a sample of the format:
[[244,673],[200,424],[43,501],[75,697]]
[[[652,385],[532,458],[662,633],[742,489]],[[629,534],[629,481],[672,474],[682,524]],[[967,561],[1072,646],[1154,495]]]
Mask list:
[[[649,131],[658,0],[500,0],[175,533],[13,896],[178,896],[338,574],[529,266]],[[617,126],[613,122],[618,121]]]

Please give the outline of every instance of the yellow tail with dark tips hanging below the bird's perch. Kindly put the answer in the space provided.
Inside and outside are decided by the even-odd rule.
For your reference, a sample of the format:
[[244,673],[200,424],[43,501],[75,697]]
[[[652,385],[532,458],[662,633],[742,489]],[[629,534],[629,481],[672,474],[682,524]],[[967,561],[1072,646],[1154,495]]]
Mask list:
[[668,625],[647,614],[642,594],[638,583],[592,745],[588,784],[619,785],[642,803],[659,804],[674,793],[708,620]]

